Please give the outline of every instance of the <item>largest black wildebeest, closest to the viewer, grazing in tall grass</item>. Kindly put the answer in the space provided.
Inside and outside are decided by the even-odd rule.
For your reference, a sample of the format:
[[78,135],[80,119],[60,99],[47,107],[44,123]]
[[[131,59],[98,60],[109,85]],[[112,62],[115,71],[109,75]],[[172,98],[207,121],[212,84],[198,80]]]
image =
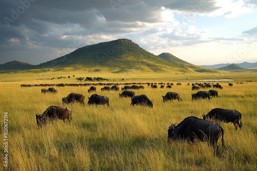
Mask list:
[[199,119],[193,116],[185,118],[177,126],[173,123],[168,130],[168,143],[174,140],[188,140],[194,142],[194,139],[209,142],[216,152],[218,151],[217,141],[222,136],[222,145],[224,144],[224,129],[216,122]]

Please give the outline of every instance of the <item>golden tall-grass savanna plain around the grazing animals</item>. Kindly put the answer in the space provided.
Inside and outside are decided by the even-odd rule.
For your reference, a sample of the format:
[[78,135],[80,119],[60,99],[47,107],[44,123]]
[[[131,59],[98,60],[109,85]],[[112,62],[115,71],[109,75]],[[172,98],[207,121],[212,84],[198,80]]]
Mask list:
[[[82,71],[83,72],[83,71]],[[119,92],[97,94],[109,98],[107,106],[67,104],[72,110],[71,124],[59,120],[38,129],[35,114],[42,114],[51,105],[63,105],[62,97],[71,92],[89,96],[89,87],[55,87],[57,94],[42,94],[43,87],[22,88],[21,84],[88,83],[75,78],[37,80],[75,74],[64,73],[12,73],[0,74],[1,160],[4,161],[4,113],[8,112],[8,168],[7,170],[256,170],[257,169],[257,73],[199,73],[160,74],[133,73],[88,75],[110,78],[107,82],[173,82],[172,89],[134,90],[136,95],[146,94],[154,99],[154,107],[131,106],[130,98],[119,98]],[[95,75],[94,75],[95,74]],[[97,75],[98,74],[98,75]],[[124,78],[124,81],[120,81]],[[191,100],[194,79],[234,79],[219,82],[223,90],[219,97]],[[251,80],[252,82],[246,82]],[[236,84],[236,82],[244,84]],[[176,86],[180,82],[181,86]],[[98,83],[98,82],[95,82]],[[120,85],[120,88],[124,85]],[[48,87],[46,87],[48,88]],[[203,89],[209,90],[209,89]],[[163,103],[162,95],[177,92],[182,102]],[[168,127],[188,116],[201,118],[213,108],[234,109],[242,113],[242,129],[235,131],[232,123],[220,123],[225,130],[225,145],[218,140],[220,153],[206,142],[167,143]],[[1,170],[5,170],[1,161]]]

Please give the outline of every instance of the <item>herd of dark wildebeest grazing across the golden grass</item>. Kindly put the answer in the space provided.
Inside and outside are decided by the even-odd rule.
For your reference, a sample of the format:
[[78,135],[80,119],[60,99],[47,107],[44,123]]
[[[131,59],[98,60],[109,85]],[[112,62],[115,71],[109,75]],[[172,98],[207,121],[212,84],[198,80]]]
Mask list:
[[[157,85],[150,84],[151,88],[157,88]],[[149,86],[150,86],[149,85]],[[172,84],[173,85],[173,84]],[[181,84],[177,84],[181,85]],[[163,89],[163,85],[161,85],[161,89]],[[171,88],[171,84],[168,85]],[[213,88],[223,89],[220,84],[213,84]],[[211,88],[211,84],[192,84],[192,90],[199,90],[200,88]],[[231,86],[231,84],[229,84]],[[119,93],[119,98],[128,97],[131,98],[131,105],[144,105],[153,108],[153,99],[150,100],[145,94],[136,95],[134,91],[130,89],[144,89],[144,86],[124,86],[121,88],[122,93]],[[88,89],[88,93],[96,92],[96,87],[91,86]],[[101,91],[119,91],[119,86],[116,84],[113,87],[104,86],[101,88]],[[57,93],[57,89],[49,88],[48,90],[42,89],[42,93],[52,92]],[[218,97],[217,90],[209,90],[209,91],[198,91],[197,93],[191,94],[192,100],[197,99],[208,99],[210,100],[212,97]],[[71,102],[78,102],[81,104],[85,104],[85,95],[79,93],[70,93],[66,97],[62,98],[63,104],[68,104]],[[178,100],[182,102],[182,98],[176,92],[167,92],[166,95],[162,95],[163,102]],[[93,94],[88,96],[88,105],[107,105],[109,106],[109,98],[106,96]],[[39,127],[45,125],[48,122],[52,122],[53,120],[67,120],[71,121],[71,109],[66,106],[50,106],[46,109],[46,111],[40,115],[36,114],[36,123]],[[168,143],[171,143],[174,140],[184,139],[189,142],[194,142],[194,139],[198,139],[200,141],[207,141],[210,145],[214,146],[217,150],[217,141],[222,137],[222,145],[224,146],[224,129],[221,125],[217,123],[217,121],[223,121],[226,123],[233,123],[235,129],[242,127],[241,122],[242,115],[240,112],[236,110],[228,110],[228,109],[220,109],[215,108],[212,109],[208,114],[203,114],[203,119],[199,119],[195,116],[190,116],[185,118],[179,124],[173,123],[169,126],[168,129]],[[210,121],[211,120],[211,121]],[[177,125],[176,125],[177,124]]]

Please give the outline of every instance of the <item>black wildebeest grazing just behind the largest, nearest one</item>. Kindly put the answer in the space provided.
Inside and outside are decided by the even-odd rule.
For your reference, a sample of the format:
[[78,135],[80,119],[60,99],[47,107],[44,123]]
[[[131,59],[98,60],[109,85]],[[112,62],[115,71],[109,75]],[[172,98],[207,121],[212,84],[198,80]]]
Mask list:
[[[242,115],[240,112],[236,110],[228,110],[228,109],[221,109],[221,108],[215,108],[211,110],[207,115],[203,114],[204,119],[215,119],[219,121],[224,121],[226,123],[233,123],[235,126],[235,130],[237,130],[237,127],[242,127]],[[239,123],[240,121],[240,123]]]

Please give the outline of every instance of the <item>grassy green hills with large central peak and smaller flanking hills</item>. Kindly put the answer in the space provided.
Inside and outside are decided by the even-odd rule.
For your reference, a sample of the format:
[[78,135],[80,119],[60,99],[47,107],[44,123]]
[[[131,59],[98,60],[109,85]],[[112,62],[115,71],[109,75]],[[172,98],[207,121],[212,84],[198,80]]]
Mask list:
[[[176,71],[176,72],[216,72],[192,65],[170,53],[158,56],[142,49],[129,39],[101,42],[75,50],[67,55],[30,65],[11,61],[0,65],[0,70],[49,69],[49,68],[109,68],[111,72],[137,71]],[[115,70],[115,71],[114,71]]]

